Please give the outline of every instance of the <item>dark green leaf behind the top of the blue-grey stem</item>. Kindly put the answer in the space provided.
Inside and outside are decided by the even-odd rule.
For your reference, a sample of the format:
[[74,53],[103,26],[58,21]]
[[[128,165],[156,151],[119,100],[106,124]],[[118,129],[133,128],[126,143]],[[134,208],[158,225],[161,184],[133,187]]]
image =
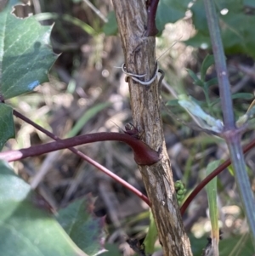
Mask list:
[[[221,0],[215,2],[218,9],[221,34],[226,54],[248,54],[255,58],[255,34],[251,24],[255,16],[246,12],[246,6],[254,7],[253,0]],[[225,9],[228,12],[221,14]],[[197,0],[190,8],[197,33],[185,43],[194,47],[211,48],[207,18],[202,0]]]

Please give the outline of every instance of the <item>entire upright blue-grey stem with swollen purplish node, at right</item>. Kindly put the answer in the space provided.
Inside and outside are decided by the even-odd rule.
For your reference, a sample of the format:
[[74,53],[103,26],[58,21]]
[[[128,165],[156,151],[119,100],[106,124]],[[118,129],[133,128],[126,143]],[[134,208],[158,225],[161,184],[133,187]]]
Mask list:
[[227,65],[225,62],[224,48],[221,40],[218,16],[215,9],[215,3],[212,0],[204,0],[207,13],[207,24],[210,31],[212,51],[215,59],[215,67],[218,76],[218,86],[220,100],[224,116],[224,132],[222,136],[229,147],[230,158],[235,170],[235,182],[238,186],[241,201],[244,206],[246,218],[252,232],[252,241],[255,245],[255,210],[254,198],[250,181],[246,172],[246,163],[241,151],[241,128],[235,127],[235,117],[233,112],[233,103],[229,87],[229,78],[227,74]]

